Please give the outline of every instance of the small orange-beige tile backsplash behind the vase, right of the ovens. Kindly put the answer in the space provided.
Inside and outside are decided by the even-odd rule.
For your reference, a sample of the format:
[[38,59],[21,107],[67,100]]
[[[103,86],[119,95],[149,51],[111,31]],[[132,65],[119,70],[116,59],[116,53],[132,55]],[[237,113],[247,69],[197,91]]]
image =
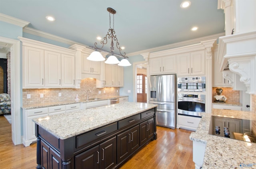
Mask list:
[[213,87],[212,88],[212,101],[215,100],[213,96],[217,95],[216,88],[222,88],[222,95],[228,98],[228,102],[240,102],[240,91],[232,90],[231,87]]

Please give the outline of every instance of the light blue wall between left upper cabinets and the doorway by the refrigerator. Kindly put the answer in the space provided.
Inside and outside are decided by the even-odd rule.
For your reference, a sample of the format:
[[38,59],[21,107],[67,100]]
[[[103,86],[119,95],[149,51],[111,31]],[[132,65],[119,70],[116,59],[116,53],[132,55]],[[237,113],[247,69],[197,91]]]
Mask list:
[[[133,100],[133,63],[139,62],[139,61],[145,61],[142,55],[136,55],[131,56],[128,58],[129,62],[132,64],[131,66],[124,67],[124,87],[120,87],[120,95],[126,95],[129,96],[129,102],[135,102]],[[130,93],[128,93],[128,90],[131,90]]]

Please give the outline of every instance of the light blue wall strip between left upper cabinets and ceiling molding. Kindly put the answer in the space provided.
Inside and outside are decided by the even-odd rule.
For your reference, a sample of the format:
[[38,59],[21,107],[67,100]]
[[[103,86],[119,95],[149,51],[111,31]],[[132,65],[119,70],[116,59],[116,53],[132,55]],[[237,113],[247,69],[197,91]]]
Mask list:
[[32,39],[32,40],[36,40],[36,41],[40,41],[40,42],[44,42],[44,43],[49,43],[49,44],[60,46],[60,47],[66,47],[66,48],[70,47],[70,45],[68,45],[66,43],[61,43],[61,42],[54,41],[54,40],[51,40],[51,39],[47,39],[47,38],[44,38],[44,37],[32,35],[32,34],[26,33],[26,32],[23,32],[22,37]]

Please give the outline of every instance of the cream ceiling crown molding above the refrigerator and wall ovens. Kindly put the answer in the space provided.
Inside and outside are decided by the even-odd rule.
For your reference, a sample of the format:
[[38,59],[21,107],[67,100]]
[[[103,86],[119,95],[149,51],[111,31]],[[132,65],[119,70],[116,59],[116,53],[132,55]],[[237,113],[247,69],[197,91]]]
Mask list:
[[146,49],[146,50],[142,50],[142,51],[137,51],[137,52],[133,52],[133,53],[127,53],[126,55],[127,56],[135,56],[135,55],[140,55],[141,53],[152,53],[152,52],[157,52],[157,51],[174,49],[174,48],[177,48],[177,47],[194,45],[196,43],[201,43],[202,41],[207,41],[207,40],[211,40],[211,39],[218,39],[221,36],[225,36],[225,32],[214,34],[214,35],[209,35],[209,36],[204,36],[204,37],[199,37],[199,38],[196,38],[196,39],[190,39],[190,40],[182,41],[182,42],[178,42],[178,43],[172,43],[170,45],[154,47],[154,48],[150,48],[150,49]]

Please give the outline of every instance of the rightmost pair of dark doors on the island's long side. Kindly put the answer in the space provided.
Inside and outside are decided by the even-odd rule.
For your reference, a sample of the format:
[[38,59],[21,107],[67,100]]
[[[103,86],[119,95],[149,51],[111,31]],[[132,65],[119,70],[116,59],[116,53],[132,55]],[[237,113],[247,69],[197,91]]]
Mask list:
[[154,118],[140,124],[140,146],[154,136]]

